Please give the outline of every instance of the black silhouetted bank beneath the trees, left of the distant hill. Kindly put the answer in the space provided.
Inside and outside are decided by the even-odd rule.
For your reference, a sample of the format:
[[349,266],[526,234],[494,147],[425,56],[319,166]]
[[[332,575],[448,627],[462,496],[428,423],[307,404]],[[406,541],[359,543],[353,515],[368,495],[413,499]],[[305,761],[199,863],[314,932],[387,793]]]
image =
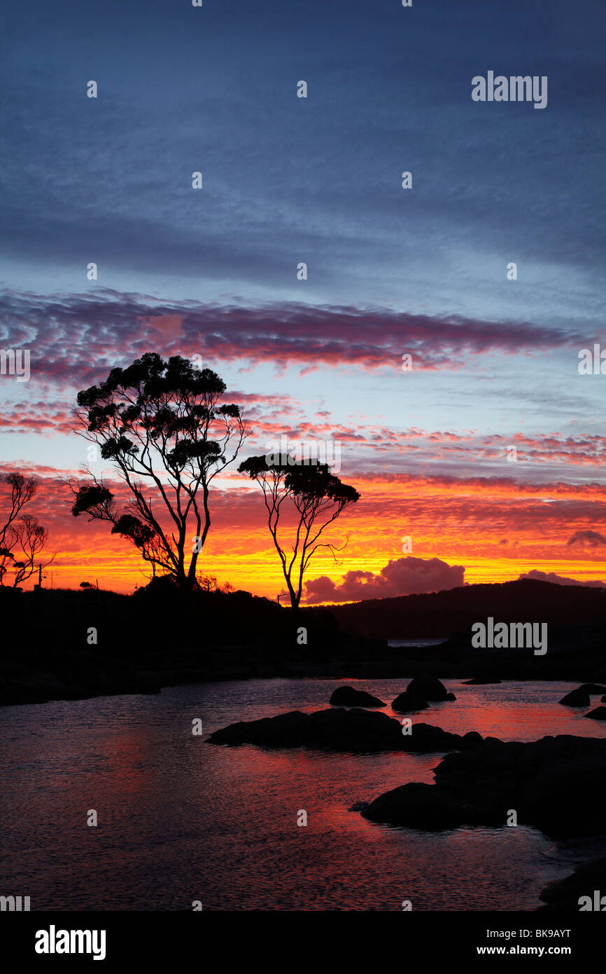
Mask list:
[[134,595],[0,587],[0,618],[0,706],[327,667],[340,676],[385,649],[322,608],[293,613],[250,592],[182,592],[161,579]]

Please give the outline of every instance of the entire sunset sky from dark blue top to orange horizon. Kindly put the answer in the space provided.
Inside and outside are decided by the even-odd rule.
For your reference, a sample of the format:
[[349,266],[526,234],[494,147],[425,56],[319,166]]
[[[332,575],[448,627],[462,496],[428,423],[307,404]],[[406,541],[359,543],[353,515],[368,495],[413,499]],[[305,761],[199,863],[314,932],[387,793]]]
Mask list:
[[[0,348],[31,374],[0,375],[0,472],[40,479],[45,584],[145,583],[62,480],[87,461],[76,394],[147,351],[222,376],[243,456],[339,445],[361,499],[308,604],[606,581],[606,375],[579,371],[606,349],[601,0],[34,0],[5,21]],[[474,101],[488,71],[547,77],[547,106]],[[275,598],[235,466],[203,568]]]

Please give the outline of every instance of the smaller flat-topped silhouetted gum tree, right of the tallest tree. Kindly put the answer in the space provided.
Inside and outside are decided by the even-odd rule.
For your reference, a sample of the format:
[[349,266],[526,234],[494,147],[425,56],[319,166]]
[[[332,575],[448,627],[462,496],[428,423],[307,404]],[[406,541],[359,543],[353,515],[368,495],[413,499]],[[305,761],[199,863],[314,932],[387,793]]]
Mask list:
[[[333,556],[340,550],[318,539],[345,507],[360,499],[360,495],[353,487],[341,483],[327,464],[304,464],[293,457],[286,458],[284,464],[267,463],[267,457],[249,457],[240,464],[238,472],[247,473],[263,490],[269,534],[282,565],[291,606],[298,609],[303,575],[314,553],[319,547],[330,548]],[[287,554],[284,543],[278,539],[278,522],[285,502],[297,511],[292,554]]]

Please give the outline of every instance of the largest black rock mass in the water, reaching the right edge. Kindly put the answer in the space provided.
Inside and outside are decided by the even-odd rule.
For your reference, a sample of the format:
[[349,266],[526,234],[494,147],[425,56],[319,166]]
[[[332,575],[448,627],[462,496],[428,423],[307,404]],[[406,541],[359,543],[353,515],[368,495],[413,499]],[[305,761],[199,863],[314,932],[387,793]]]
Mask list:
[[[604,708],[606,710],[606,708]],[[596,783],[606,774],[606,740],[560,735],[527,744],[487,737],[447,754],[434,785],[404,785],[379,796],[363,814],[410,828],[519,825],[553,838],[599,835],[603,808]],[[438,823],[438,824],[437,824]]]

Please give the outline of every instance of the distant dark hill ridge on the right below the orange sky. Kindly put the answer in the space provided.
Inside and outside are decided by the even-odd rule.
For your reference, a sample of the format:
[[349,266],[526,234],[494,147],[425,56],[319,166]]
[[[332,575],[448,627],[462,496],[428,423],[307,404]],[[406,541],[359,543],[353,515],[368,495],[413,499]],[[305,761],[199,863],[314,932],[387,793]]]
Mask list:
[[606,588],[520,579],[327,606],[341,629],[382,639],[446,639],[492,616],[572,625],[606,620]]

